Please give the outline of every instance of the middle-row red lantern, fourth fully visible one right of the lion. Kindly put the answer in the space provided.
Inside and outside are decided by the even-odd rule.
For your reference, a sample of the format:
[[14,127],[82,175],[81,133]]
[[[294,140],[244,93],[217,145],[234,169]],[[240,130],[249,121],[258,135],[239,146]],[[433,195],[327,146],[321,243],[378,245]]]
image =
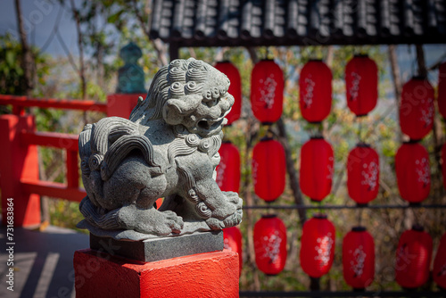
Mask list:
[[395,156],[395,170],[401,197],[409,203],[425,200],[431,190],[431,168],[425,147],[414,142],[401,145]]

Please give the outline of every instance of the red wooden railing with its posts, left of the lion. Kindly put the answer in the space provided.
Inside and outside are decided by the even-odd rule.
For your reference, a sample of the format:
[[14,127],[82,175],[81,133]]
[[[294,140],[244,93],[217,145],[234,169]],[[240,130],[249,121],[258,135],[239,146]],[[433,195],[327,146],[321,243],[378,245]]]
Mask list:
[[[128,118],[138,96],[109,95],[107,103],[97,103],[0,95],[0,104],[12,105],[12,114],[0,116],[3,222],[7,220],[7,198],[13,198],[14,225],[32,226],[40,223],[40,195],[75,202],[87,195],[78,181],[78,135],[36,131],[34,115],[25,114],[25,108],[106,112],[108,116]],[[39,179],[37,145],[66,151],[66,184]]]

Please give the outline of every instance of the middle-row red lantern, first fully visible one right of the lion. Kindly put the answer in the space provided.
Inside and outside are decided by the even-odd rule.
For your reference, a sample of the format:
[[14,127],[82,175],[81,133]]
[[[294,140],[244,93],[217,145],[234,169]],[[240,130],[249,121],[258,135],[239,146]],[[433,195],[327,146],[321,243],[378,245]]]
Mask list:
[[267,202],[285,189],[285,150],[271,138],[263,138],[252,152],[252,179],[256,195]]

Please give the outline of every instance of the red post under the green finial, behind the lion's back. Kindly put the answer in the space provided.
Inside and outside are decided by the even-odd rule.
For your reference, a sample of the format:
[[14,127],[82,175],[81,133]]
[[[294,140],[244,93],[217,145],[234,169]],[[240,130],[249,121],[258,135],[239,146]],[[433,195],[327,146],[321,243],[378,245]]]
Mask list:
[[107,116],[118,116],[128,119],[130,113],[138,102],[139,96],[145,98],[145,94],[107,95]]

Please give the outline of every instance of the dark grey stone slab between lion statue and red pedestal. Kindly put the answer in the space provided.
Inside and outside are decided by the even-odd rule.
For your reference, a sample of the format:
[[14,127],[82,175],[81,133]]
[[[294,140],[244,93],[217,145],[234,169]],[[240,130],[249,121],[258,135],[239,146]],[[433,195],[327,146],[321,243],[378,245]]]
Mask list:
[[103,252],[111,250],[116,255],[136,261],[161,261],[196,253],[223,251],[223,231],[143,241],[115,240],[90,234],[90,248]]

